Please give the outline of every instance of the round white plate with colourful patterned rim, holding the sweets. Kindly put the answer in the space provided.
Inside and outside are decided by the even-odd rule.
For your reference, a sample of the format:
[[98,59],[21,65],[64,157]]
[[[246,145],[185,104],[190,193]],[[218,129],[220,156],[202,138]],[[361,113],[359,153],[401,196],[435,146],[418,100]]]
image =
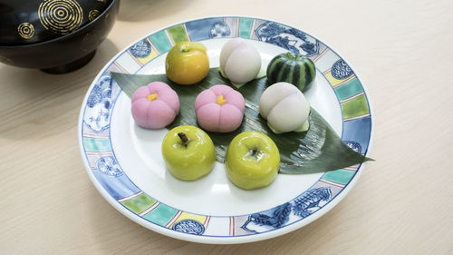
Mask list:
[[265,240],[298,229],[329,211],[352,188],[363,166],[333,172],[280,174],[268,187],[237,188],[224,165],[198,181],[179,181],[165,170],[160,145],[167,129],[138,127],[130,99],[110,72],[163,74],[169,48],[179,41],[207,46],[211,67],[231,37],[249,39],[266,65],[288,50],[310,56],[315,84],[305,93],[352,149],[366,154],[372,139],[371,104],[351,67],[309,34],[250,17],[209,17],[148,34],[117,54],[93,81],[79,119],[82,159],[96,188],[140,225],[181,240],[239,243]]

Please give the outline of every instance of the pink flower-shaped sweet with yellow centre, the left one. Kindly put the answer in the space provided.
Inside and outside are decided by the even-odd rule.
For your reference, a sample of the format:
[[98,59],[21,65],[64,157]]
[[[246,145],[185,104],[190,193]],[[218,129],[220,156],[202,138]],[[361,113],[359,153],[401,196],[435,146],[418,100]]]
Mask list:
[[132,117],[140,127],[164,128],[178,113],[178,94],[167,83],[149,83],[132,94]]

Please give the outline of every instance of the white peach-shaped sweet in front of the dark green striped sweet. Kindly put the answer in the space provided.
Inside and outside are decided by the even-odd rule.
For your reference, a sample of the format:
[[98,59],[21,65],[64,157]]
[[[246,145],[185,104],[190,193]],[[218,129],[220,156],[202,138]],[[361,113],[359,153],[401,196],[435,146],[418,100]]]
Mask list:
[[291,83],[275,83],[265,89],[259,100],[259,113],[275,132],[304,132],[309,128],[310,103]]

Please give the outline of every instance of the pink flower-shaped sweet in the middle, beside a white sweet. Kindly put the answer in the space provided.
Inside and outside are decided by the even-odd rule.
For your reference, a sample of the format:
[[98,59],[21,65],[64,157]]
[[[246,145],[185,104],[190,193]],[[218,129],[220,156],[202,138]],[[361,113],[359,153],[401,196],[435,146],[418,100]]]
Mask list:
[[210,132],[232,132],[242,123],[246,102],[241,93],[215,85],[198,94],[195,113],[198,124]]

